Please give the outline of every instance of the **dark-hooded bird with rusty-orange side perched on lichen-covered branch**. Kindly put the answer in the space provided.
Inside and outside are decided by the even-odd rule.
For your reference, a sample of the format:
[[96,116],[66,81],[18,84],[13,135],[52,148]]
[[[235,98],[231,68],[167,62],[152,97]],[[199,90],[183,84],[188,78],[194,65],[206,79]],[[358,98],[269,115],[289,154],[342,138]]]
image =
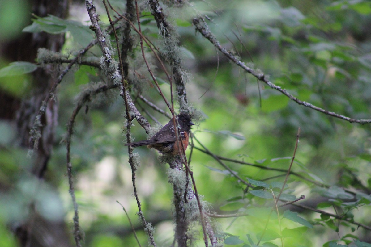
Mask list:
[[[180,126],[181,140],[183,141],[184,150],[188,146],[189,131],[194,125],[191,117],[187,113],[180,113],[176,116]],[[148,148],[155,148],[164,155],[175,156],[182,150],[180,138],[177,140],[174,132],[173,120],[170,120],[164,127],[161,128],[150,140],[143,140],[125,144],[125,146],[139,147],[148,145]]]

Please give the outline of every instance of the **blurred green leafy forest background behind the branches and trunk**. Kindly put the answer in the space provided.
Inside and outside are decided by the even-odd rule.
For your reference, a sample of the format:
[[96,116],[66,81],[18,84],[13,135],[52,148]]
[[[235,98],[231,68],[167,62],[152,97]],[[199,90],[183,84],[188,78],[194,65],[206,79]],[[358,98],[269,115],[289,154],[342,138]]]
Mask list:
[[[111,3],[118,11],[124,11],[125,2]],[[108,25],[104,7],[100,2],[95,4],[98,5],[101,20]],[[158,38],[154,18],[146,14],[148,10],[145,4],[140,4],[142,31],[156,46],[161,47],[162,40]],[[297,163],[293,164],[293,171],[329,186],[370,194],[369,124],[349,123],[329,117],[298,105],[262,82],[257,83],[255,77],[244,73],[218,53],[209,41],[195,32],[191,24],[197,14],[207,15],[211,20],[207,21],[210,31],[223,47],[231,50],[245,63],[251,63],[249,66],[263,71],[273,83],[298,99],[355,119],[370,119],[369,1],[234,0],[226,4],[225,1],[211,0],[185,2],[183,7],[177,7],[171,1],[164,1],[163,4],[164,12],[179,34],[182,68],[187,77],[188,102],[204,113],[204,120],[197,121],[197,125],[192,128],[193,135],[204,146],[219,156],[287,169],[300,127],[301,136],[295,158]],[[15,42],[23,35],[22,29],[31,24],[29,13],[31,10],[24,1],[0,2],[1,48],[5,47],[5,43]],[[78,2],[71,3],[68,18],[86,26],[89,24],[86,22],[89,20],[86,10]],[[73,23],[71,25],[77,26]],[[9,26],[12,26],[12,31],[9,31]],[[65,43],[62,53],[65,55],[81,49],[86,39],[89,40],[89,35],[93,37],[92,31],[86,31],[87,36],[74,35],[72,27],[68,27],[66,33],[63,32]],[[139,39],[134,33],[133,37],[135,45],[130,57],[131,68],[145,74],[146,69],[141,67]],[[95,47],[86,56],[93,60],[95,56],[99,58],[101,53]],[[13,61],[5,56],[0,57],[0,67],[6,67],[10,62]],[[155,70],[155,73],[157,78],[165,80],[160,69]],[[101,81],[98,74],[98,69],[81,65],[70,71],[58,87],[58,126],[55,128],[52,155],[43,180],[32,175],[35,156],[27,157],[27,147],[19,146],[16,117],[1,118],[1,246],[20,245],[12,231],[17,224],[29,221],[30,208],[37,212],[37,217],[42,219],[40,222],[66,222],[66,231],[72,231],[73,205],[66,177],[63,135],[75,107],[76,96],[86,84]],[[150,78],[148,73],[145,76]],[[30,74],[2,76],[0,90],[22,101],[30,97],[30,92],[35,89],[30,77]],[[161,89],[170,99],[169,85],[163,83]],[[133,90],[132,93],[135,99],[137,92]],[[166,110],[149,80],[141,84],[141,94]],[[138,103],[139,110],[143,107],[161,124],[167,123],[166,117],[139,99]],[[123,146],[126,138],[122,98],[117,90],[112,90],[98,95],[89,104],[88,113],[81,111],[76,118],[71,146],[85,245],[137,246],[117,200],[128,211],[142,246],[147,246],[147,236],[135,215],[138,208],[133,197],[127,147]],[[148,117],[144,111],[142,113]],[[155,124],[153,120],[150,123]],[[144,130],[139,124],[135,125],[132,131],[136,140],[145,139]],[[194,145],[200,147],[197,143]],[[190,150],[191,147],[187,155]],[[156,227],[158,246],[171,246],[174,237],[171,219],[173,188],[168,183],[168,165],[160,164],[154,150],[139,147],[135,151],[140,154],[141,161],[136,181],[144,216]],[[265,180],[267,183],[284,180],[285,173],[226,163],[244,178]],[[210,211],[220,214],[236,212],[249,204],[246,200],[230,200],[246,196],[243,184],[230,176],[211,156],[193,149],[190,165],[198,193],[209,203]],[[339,199],[328,199],[314,184],[293,176],[289,178],[288,188],[297,197],[304,194],[306,199],[303,203],[311,207],[323,201]],[[256,208],[266,202],[260,198],[250,199]],[[369,226],[370,201],[365,202],[349,206],[349,211],[354,214],[354,221]],[[344,204],[339,207],[347,211]],[[334,213],[331,207],[326,210]],[[285,246],[322,246],[328,241],[340,240],[346,234],[353,235],[348,239],[358,237],[361,241],[371,241],[370,231],[362,227],[344,225],[337,220],[316,221],[320,218],[318,213],[300,213],[315,226],[303,229],[292,221],[283,221],[283,226],[296,227],[298,231],[294,237],[285,238]],[[256,241],[256,234],[264,228],[265,219],[266,214],[262,213],[260,218],[259,213],[256,213],[255,216],[215,221],[221,231],[241,236],[240,239],[248,244],[246,234],[250,234]],[[278,227],[275,224],[276,221],[273,221],[271,227]],[[199,230],[199,226],[195,227]],[[354,230],[351,227],[355,227]],[[303,229],[302,232],[300,229]],[[72,237],[68,245],[71,243]],[[280,246],[280,241],[274,243]],[[338,243],[348,244],[346,241]],[[201,234],[195,245],[203,246]]]

